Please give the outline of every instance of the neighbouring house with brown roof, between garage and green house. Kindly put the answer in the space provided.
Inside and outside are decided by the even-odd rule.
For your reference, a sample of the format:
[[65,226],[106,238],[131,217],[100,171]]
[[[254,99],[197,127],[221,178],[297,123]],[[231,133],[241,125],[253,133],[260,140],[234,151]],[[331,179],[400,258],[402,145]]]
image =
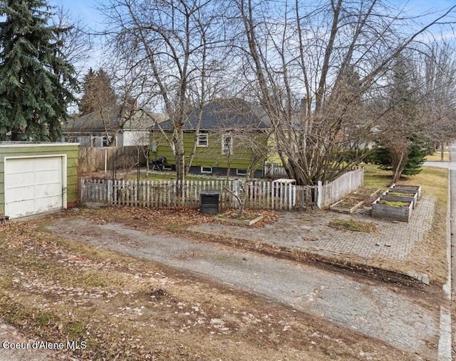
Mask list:
[[164,114],[115,106],[70,119],[62,126],[62,140],[96,147],[147,145],[150,126],[165,119]]

